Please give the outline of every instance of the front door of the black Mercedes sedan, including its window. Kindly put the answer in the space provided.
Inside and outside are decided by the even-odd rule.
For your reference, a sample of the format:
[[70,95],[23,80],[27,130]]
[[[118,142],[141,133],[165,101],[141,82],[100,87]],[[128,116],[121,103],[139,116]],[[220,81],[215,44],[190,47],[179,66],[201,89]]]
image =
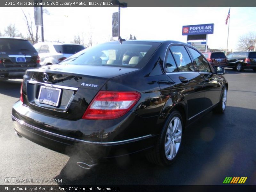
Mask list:
[[221,81],[219,76],[213,73],[210,64],[203,55],[192,47],[188,47],[200,77],[205,85],[205,96],[203,110],[206,110],[220,101]]

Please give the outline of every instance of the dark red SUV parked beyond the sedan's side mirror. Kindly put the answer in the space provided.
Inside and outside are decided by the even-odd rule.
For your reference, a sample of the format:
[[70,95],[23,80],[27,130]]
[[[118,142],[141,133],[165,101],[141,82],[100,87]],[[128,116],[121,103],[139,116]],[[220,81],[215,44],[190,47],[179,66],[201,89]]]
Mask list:
[[203,55],[212,66],[227,66],[227,57],[224,52],[204,52]]

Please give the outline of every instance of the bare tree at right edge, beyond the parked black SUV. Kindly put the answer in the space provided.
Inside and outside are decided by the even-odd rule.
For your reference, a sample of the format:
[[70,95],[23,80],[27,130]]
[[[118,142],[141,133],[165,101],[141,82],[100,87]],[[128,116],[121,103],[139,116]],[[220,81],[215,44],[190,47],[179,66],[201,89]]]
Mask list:
[[256,40],[256,34],[254,32],[249,32],[239,37],[237,49],[239,51],[251,51],[252,46],[254,46]]

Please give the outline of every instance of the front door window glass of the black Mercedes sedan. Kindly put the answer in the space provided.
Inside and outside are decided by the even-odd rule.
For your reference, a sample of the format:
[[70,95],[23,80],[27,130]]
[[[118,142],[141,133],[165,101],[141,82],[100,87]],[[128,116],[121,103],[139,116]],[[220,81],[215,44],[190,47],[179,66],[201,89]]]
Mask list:
[[211,72],[208,62],[204,59],[203,55],[197,52],[195,49],[188,47],[188,50],[192,54],[196,62],[196,66],[200,72]]

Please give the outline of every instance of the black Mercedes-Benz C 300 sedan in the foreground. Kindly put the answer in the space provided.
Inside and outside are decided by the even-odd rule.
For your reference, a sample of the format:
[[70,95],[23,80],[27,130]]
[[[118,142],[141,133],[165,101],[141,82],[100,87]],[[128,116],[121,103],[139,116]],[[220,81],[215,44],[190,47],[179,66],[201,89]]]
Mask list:
[[169,165],[189,124],[212,109],[224,112],[224,72],[177,41],[99,44],[27,70],[12,109],[14,129],[44,147],[87,156],[88,168],[141,151]]

